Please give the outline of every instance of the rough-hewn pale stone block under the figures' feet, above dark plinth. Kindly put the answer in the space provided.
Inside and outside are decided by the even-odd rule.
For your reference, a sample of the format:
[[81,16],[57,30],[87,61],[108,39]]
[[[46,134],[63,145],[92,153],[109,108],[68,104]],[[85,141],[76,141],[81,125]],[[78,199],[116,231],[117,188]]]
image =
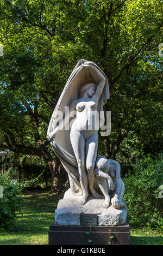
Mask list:
[[68,189],[64,198],[59,200],[58,208],[55,210],[55,224],[80,225],[80,213],[97,215],[98,226],[116,226],[126,223],[127,206],[123,209],[115,209],[110,205],[105,209],[102,194],[98,199],[90,195],[85,205],[81,203],[82,196],[72,195],[71,189]]

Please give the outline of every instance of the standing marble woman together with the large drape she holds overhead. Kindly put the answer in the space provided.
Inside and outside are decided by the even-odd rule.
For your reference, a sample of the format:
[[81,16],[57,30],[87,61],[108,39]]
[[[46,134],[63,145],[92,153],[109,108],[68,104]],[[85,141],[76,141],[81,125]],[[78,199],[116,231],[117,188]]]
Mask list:
[[[88,187],[91,194],[98,197],[93,172],[98,148],[97,112],[103,113],[103,104],[108,98],[109,85],[105,74],[95,63],[81,59],[70,75],[49,123],[47,139],[68,172],[72,193],[83,194],[82,205],[89,195]],[[70,107],[68,115],[65,106]],[[64,113],[62,122],[57,118],[58,111]],[[71,129],[65,130],[74,111],[76,118]],[[100,118],[102,125],[104,115]]]

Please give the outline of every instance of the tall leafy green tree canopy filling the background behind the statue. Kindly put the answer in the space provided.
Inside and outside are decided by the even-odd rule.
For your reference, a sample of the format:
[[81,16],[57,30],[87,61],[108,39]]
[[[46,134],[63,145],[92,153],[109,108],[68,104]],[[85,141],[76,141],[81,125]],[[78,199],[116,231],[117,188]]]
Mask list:
[[[160,118],[153,122],[149,107],[153,115],[161,115],[161,1],[0,3],[1,148],[43,158],[53,189],[61,189],[65,171],[53,157],[46,132],[62,88],[81,58],[96,62],[109,80],[105,110],[111,110],[112,132],[100,137],[99,151],[116,158],[131,132],[140,144],[146,135],[147,150],[151,140],[159,142]],[[160,142],[154,148],[160,150]]]

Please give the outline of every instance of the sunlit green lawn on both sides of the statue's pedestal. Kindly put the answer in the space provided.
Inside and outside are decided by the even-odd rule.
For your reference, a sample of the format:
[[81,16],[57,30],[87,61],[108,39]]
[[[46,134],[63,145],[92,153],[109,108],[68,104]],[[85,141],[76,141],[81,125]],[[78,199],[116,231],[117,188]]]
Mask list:
[[[54,211],[63,195],[47,190],[24,193],[22,213],[17,213],[17,231],[0,231],[0,245],[48,245],[49,225],[54,222]],[[131,245],[163,245],[163,235],[131,227]]]

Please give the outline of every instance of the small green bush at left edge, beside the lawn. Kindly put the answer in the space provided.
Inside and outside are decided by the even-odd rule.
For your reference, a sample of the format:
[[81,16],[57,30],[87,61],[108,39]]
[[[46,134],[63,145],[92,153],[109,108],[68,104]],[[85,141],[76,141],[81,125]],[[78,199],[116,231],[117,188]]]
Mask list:
[[3,187],[3,198],[0,198],[0,230],[13,230],[16,211],[21,210],[23,185],[12,182],[11,171],[0,175],[0,185]]

